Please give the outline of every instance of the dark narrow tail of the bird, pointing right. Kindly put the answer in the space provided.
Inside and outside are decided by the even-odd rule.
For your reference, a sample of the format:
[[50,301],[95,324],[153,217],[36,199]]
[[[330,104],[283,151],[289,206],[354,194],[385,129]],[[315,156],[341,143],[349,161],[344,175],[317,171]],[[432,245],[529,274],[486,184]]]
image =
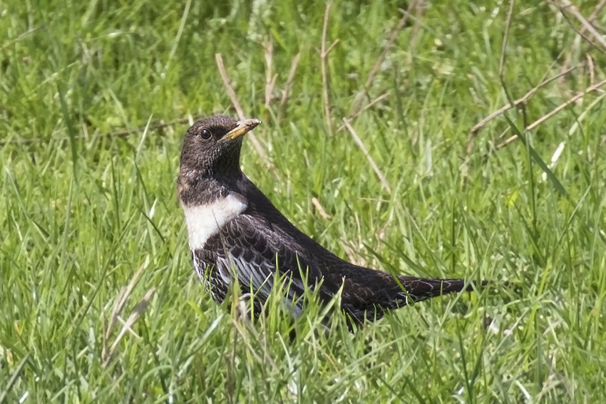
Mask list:
[[[425,279],[413,278],[411,276],[398,276],[398,280],[404,287],[399,295],[406,296],[406,301],[423,301],[443,294],[456,293],[460,291],[473,291],[476,281],[467,284],[464,279]],[[482,281],[482,286],[488,281]],[[402,297],[404,297],[402,296]]]

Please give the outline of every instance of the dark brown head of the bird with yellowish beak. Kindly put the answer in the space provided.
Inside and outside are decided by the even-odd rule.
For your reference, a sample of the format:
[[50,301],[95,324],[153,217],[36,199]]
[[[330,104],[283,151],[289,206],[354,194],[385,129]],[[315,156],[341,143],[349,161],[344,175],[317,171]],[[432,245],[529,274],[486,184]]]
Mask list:
[[185,133],[180,175],[213,177],[240,172],[242,135],[260,123],[227,116],[198,120]]

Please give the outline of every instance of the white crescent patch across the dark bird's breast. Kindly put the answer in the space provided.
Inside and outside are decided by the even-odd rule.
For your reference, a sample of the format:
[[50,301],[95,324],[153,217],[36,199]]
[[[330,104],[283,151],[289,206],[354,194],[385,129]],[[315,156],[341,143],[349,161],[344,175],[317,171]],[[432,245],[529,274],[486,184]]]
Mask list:
[[202,249],[209,237],[219,232],[221,227],[247,208],[245,200],[233,193],[206,204],[182,206],[185,223],[188,225],[191,251]]

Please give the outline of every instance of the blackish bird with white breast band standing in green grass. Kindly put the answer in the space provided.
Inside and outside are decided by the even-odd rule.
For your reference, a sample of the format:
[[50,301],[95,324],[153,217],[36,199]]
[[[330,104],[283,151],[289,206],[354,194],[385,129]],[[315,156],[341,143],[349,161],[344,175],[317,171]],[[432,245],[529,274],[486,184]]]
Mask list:
[[[301,232],[240,168],[244,135],[261,122],[214,116],[185,133],[177,179],[195,272],[221,303],[237,278],[240,296],[254,296],[255,312],[276,276],[289,287],[284,299],[300,316],[306,286],[327,303],[341,293],[341,311],[358,326],[387,311],[435,296],[473,291],[475,281],[393,275],[354,265]],[[481,284],[486,284],[482,281]]]

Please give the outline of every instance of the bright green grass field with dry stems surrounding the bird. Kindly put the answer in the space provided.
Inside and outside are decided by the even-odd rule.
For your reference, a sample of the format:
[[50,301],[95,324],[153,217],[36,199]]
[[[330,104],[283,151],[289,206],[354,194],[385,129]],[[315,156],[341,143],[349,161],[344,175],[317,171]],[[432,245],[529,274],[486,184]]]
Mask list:
[[[604,399],[605,93],[550,115],[604,40],[541,1],[371,3],[0,3],[0,403]],[[493,286],[355,334],[314,296],[294,325],[215,304],[175,177],[189,121],[237,115],[217,53],[263,120],[243,170],[300,229]]]

